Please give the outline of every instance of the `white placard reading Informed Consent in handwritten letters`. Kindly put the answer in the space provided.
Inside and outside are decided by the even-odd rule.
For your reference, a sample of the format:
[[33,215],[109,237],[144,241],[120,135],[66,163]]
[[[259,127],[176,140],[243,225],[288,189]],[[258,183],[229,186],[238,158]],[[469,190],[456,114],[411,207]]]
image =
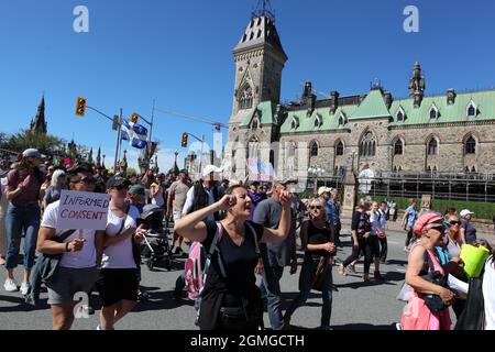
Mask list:
[[105,230],[109,202],[106,194],[63,190],[57,229]]

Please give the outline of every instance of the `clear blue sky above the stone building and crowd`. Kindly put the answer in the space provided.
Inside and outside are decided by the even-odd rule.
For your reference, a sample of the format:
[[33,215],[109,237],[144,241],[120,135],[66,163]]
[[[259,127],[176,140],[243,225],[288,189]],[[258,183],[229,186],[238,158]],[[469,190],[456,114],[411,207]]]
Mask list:
[[[110,122],[74,116],[77,96],[108,114],[157,108],[228,122],[240,40],[257,0],[2,0],[0,2],[0,131],[29,125],[45,92],[48,132],[113,160]],[[73,9],[89,9],[89,33],[75,33]],[[419,9],[419,33],[403,30],[408,4]],[[495,86],[495,3],[465,1],[272,0],[289,61],[282,97],[294,100],[309,79],[320,91],[365,94],[380,78],[407,96],[415,61],[427,94]],[[155,116],[158,164],[172,166],[182,132],[212,128]],[[211,143],[212,144],[212,143]],[[135,153],[131,153],[135,163]],[[182,162],[180,162],[182,164]]]

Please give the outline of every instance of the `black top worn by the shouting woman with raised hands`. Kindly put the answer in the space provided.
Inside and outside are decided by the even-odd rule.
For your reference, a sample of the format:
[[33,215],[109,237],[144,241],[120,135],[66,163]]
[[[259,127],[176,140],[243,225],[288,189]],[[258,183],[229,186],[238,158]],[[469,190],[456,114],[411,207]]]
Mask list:
[[[206,253],[209,253],[211,242],[213,241],[215,233],[217,232],[217,222],[211,220],[205,221],[208,235],[202,242]],[[253,229],[256,232],[257,241],[261,241],[263,237],[264,227],[255,222],[250,221]],[[241,245],[237,245],[230,238],[227,230],[223,229],[223,235],[218,243],[220,255],[222,257],[223,267],[226,270],[227,277],[224,278],[228,292],[233,296],[241,296],[246,293],[249,287],[256,284],[256,277],[254,275],[254,268],[258,261],[258,254],[256,253],[256,243],[254,237],[248,224],[245,227],[244,241]],[[218,256],[213,255],[211,258],[211,265],[208,272],[208,276],[212,275],[213,271],[221,276],[220,266],[218,264]]]

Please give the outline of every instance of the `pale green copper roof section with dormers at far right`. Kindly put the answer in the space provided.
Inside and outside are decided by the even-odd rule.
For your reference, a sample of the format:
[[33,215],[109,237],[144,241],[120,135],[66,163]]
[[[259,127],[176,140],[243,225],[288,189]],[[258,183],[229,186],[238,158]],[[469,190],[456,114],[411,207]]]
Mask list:
[[[471,100],[477,108],[476,117],[468,117],[468,105]],[[440,112],[437,120],[430,119],[433,103]],[[406,119],[402,122],[397,121],[399,107],[406,114]],[[458,94],[451,106],[447,103],[447,96],[425,97],[417,109],[414,108],[413,99],[396,100],[391,106],[391,114],[394,120],[391,125],[495,120],[495,90]]]

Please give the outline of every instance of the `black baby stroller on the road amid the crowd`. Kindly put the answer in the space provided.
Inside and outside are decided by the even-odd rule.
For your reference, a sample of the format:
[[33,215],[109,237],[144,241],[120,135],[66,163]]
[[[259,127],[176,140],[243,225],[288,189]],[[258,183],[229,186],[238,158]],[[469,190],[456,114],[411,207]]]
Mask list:
[[164,217],[165,210],[155,205],[144,206],[141,215],[142,223],[147,227],[141,256],[146,260],[150,271],[162,260],[167,271],[172,268],[172,246],[168,243],[168,229],[163,226]]

